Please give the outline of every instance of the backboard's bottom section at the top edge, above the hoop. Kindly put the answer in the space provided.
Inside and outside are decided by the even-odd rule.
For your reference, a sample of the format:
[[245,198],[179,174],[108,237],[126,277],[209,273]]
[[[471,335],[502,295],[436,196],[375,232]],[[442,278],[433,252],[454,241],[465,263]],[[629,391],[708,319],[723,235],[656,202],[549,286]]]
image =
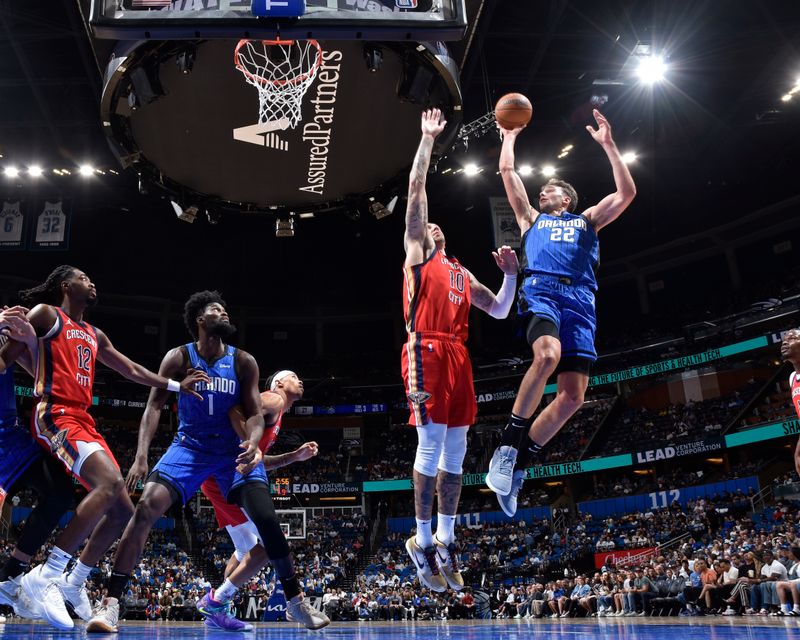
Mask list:
[[[281,11],[298,0],[259,0]],[[257,17],[251,0],[92,0],[97,38],[180,40],[315,38],[336,40],[459,40],[465,0],[306,0],[297,17]],[[274,7],[274,9],[273,9]]]

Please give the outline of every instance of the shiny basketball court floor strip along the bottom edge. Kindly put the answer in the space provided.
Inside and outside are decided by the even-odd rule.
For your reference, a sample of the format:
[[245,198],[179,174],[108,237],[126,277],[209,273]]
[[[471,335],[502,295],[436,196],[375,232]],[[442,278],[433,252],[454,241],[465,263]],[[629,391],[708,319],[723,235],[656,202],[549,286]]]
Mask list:
[[83,626],[73,631],[58,631],[42,623],[15,623],[0,625],[3,638],[37,638],[61,640],[63,638],[127,638],[138,640],[181,640],[199,638],[269,638],[295,640],[299,638],[326,638],[341,640],[662,640],[666,638],[708,638],[709,640],[784,640],[800,637],[800,618],[648,618],[648,619],[595,619],[595,620],[457,620],[438,622],[340,622],[332,623],[322,631],[307,631],[296,625],[261,623],[250,633],[232,634],[212,631],[200,623],[123,623],[119,635],[92,634],[86,636]]

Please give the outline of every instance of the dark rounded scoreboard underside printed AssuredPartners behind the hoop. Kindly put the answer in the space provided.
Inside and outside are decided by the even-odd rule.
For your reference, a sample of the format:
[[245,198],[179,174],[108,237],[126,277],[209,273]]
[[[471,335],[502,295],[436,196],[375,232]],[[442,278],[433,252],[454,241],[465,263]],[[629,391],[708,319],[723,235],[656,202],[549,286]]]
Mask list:
[[443,43],[320,40],[299,117],[275,121],[234,64],[238,43],[120,42],[107,63],[101,118],[112,149],[184,206],[299,213],[376,190],[391,197],[405,192],[422,109],[448,121],[434,156],[457,134],[458,69]]

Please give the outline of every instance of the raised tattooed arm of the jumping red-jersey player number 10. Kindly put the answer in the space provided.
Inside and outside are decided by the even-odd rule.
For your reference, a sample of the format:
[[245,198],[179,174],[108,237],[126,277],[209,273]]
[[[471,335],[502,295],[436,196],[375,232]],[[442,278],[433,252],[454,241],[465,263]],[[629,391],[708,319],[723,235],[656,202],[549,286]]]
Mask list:
[[433,153],[433,142],[447,124],[442,120],[439,109],[428,109],[422,112],[422,139],[419,142],[414,164],[408,177],[408,206],[406,207],[406,233],[404,244],[406,249],[406,266],[419,264],[433,249],[433,240],[428,233],[428,195],[425,182],[428,167]]

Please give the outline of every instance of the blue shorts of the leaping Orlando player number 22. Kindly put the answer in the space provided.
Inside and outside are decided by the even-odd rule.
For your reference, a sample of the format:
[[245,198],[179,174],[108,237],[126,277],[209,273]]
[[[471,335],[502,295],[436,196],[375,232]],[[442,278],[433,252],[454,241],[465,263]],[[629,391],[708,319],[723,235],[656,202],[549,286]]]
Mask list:
[[563,284],[550,276],[531,276],[519,290],[519,314],[523,319],[533,314],[556,325],[562,358],[597,360],[597,316],[594,291],[589,287]]

